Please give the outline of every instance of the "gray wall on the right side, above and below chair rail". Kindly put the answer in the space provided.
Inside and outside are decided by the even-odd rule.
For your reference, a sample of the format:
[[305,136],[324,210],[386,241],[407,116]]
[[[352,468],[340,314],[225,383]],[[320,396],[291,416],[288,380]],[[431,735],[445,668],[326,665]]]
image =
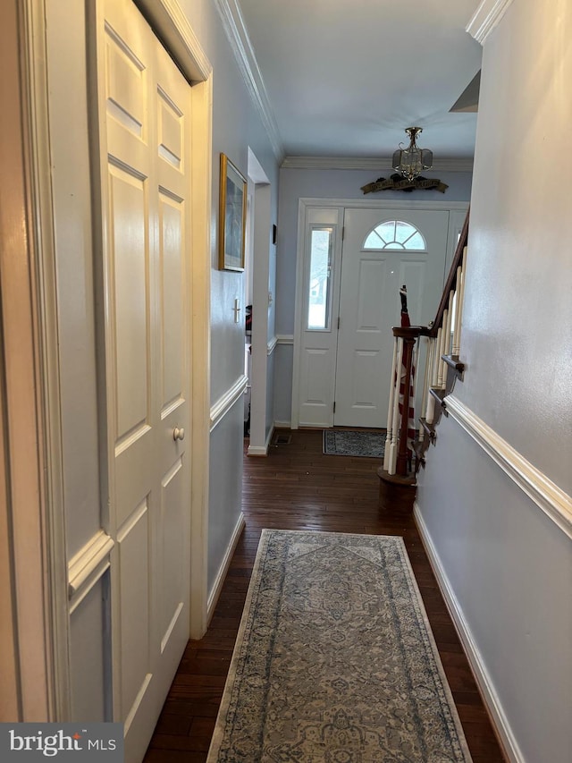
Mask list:
[[[490,448],[460,421],[442,422],[418,491],[515,755],[530,763],[565,763],[572,750],[572,157],[559,157],[558,171],[546,161],[569,130],[571,35],[569,4],[554,14],[519,0],[484,43],[461,339],[467,369],[454,395],[492,430]],[[524,161],[505,140],[515,126]],[[503,450],[556,491],[547,503],[549,513],[560,507],[563,530],[526,494],[526,480],[497,465]]]

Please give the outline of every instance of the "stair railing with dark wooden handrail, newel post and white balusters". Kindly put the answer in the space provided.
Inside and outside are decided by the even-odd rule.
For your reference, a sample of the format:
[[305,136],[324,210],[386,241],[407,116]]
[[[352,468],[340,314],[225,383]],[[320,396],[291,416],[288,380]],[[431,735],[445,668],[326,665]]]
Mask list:
[[[382,479],[395,477],[401,482],[415,483],[415,475],[425,466],[425,453],[435,443],[435,428],[445,409],[444,399],[457,378],[462,378],[464,364],[458,360],[461,318],[465,291],[467,264],[467,237],[469,213],[460,233],[457,248],[445,282],[442,298],[430,326],[394,326],[395,347],[391,368],[390,404],[383,468],[378,470]],[[408,411],[410,393],[415,397],[414,384],[419,369],[421,337],[426,341],[425,374],[423,377],[422,411],[415,442],[408,438]],[[416,368],[413,384],[412,369]],[[415,473],[411,474],[411,451],[415,454]]]

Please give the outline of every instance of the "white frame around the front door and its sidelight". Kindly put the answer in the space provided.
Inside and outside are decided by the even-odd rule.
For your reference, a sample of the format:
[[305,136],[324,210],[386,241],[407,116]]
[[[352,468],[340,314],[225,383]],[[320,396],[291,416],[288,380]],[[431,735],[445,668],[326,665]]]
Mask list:
[[[300,386],[300,353],[302,352],[302,319],[304,317],[304,304],[306,299],[306,284],[304,283],[305,260],[307,257],[307,213],[309,208],[353,208],[353,209],[410,209],[410,210],[439,210],[445,212],[458,212],[458,215],[450,215],[449,231],[447,235],[447,258],[445,271],[450,267],[450,262],[455,250],[455,229],[462,228],[468,201],[410,201],[408,199],[314,199],[301,197],[298,203],[298,242],[296,247],[296,297],[294,302],[294,349],[292,368],[292,399],[290,428],[299,428],[299,386]],[[460,221],[460,222],[459,222]],[[343,236],[343,233],[342,233]],[[341,267],[341,266],[340,266]],[[334,274],[339,280],[340,274]]]

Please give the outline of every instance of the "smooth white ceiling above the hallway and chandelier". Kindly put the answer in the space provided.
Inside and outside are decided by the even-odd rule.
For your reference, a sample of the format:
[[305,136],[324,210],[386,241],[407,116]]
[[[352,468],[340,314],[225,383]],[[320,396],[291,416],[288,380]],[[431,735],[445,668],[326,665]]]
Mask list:
[[480,0],[238,0],[286,156],[391,157],[409,125],[469,158],[476,114],[450,108],[481,65]]

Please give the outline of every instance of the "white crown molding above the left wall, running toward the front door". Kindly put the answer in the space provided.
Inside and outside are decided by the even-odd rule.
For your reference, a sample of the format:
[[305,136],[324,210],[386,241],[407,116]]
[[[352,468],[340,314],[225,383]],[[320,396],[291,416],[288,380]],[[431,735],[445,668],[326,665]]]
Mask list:
[[262,123],[272,144],[278,163],[284,157],[284,148],[278,125],[274,119],[270,99],[266,92],[262,73],[258,68],[257,56],[248,37],[248,30],[237,0],[215,0],[223,28],[231,44],[232,51],[239,64],[240,73],[260,114]]

